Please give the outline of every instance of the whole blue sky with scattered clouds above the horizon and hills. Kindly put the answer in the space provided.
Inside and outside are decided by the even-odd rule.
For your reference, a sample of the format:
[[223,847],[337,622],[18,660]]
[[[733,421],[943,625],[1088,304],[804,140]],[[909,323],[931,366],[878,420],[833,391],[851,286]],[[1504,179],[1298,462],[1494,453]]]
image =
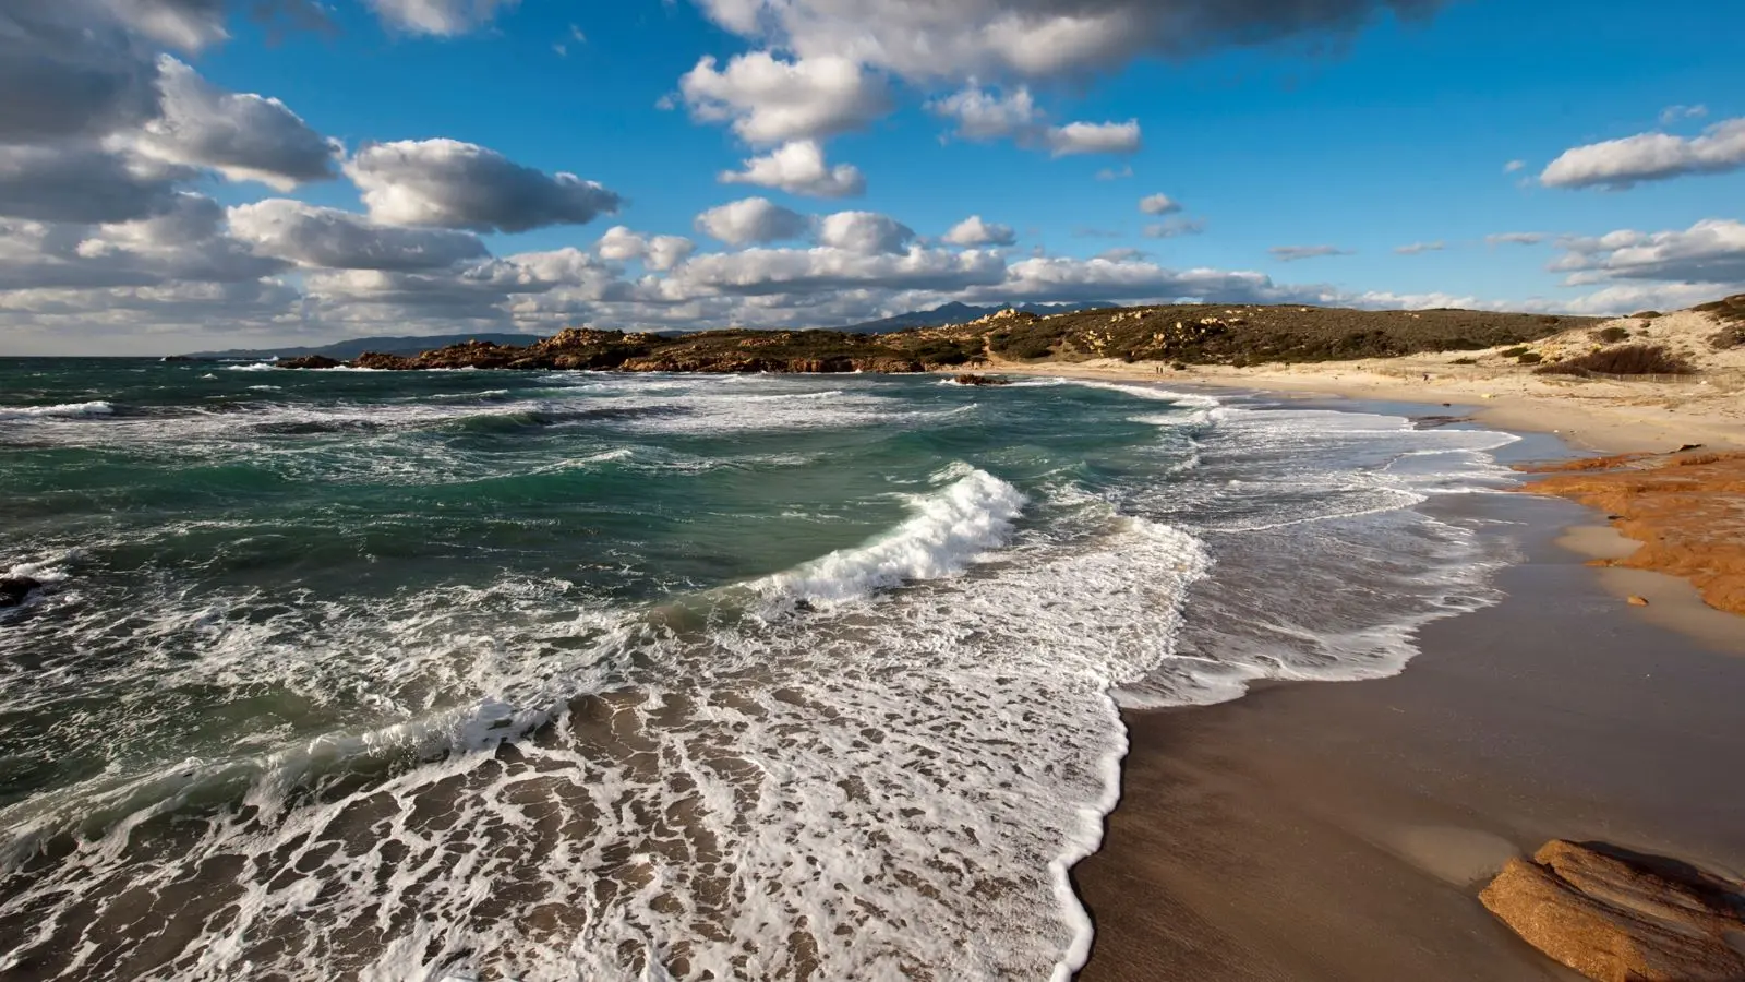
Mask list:
[[1745,292],[1719,0],[5,0],[0,355]]

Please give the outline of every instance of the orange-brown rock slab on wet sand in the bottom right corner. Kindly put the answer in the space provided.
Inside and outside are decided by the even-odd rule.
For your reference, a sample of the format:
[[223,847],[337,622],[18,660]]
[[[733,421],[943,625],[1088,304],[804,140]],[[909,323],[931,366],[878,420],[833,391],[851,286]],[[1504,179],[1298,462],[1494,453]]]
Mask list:
[[1598,982],[1745,979],[1740,884],[1675,860],[1546,842],[1480,900],[1527,944]]

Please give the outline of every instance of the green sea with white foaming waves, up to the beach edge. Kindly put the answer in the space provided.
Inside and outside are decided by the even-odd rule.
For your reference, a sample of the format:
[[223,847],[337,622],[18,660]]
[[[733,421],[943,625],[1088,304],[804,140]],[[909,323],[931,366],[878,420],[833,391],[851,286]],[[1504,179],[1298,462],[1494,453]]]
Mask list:
[[0,979],[1070,979],[1122,709],[1495,599],[1447,423],[0,360]]

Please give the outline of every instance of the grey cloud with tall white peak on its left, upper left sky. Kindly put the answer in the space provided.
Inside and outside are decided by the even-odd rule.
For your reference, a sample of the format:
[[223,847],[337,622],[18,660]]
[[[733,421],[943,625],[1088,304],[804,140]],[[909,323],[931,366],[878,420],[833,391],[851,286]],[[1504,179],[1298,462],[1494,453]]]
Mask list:
[[337,176],[339,143],[311,129],[279,100],[227,93],[169,56],[159,61],[157,84],[162,115],[134,138],[140,152],[279,190]]

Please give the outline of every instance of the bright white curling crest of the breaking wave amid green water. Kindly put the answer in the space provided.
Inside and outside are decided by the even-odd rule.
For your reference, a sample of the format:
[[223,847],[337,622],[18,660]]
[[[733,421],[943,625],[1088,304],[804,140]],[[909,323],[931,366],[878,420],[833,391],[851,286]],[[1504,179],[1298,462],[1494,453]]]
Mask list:
[[752,589],[785,601],[838,605],[913,580],[955,577],[1010,538],[1024,503],[1017,488],[972,468],[932,494],[911,498],[913,515],[892,531],[766,577]]

